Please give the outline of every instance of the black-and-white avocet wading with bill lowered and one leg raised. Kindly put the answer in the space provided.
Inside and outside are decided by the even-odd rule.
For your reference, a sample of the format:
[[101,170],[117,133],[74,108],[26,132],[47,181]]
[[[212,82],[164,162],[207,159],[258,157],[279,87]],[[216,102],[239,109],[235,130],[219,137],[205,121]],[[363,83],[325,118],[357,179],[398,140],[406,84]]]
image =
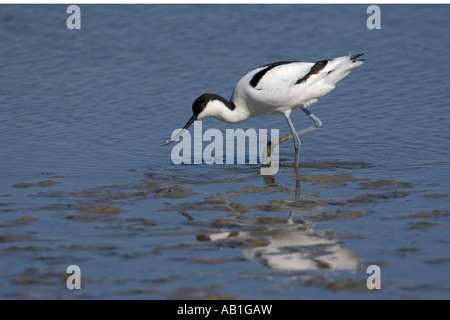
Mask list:
[[[243,76],[233,90],[230,100],[205,93],[192,104],[193,115],[177,135],[163,145],[178,138],[199,119],[214,117],[218,120],[236,123],[251,117],[283,114],[291,135],[269,142],[271,150],[275,145],[294,138],[295,163],[297,169],[300,156],[299,136],[314,130],[322,122],[307,108],[333,90],[350,71],[363,64],[358,59],[363,53],[348,55],[317,62],[280,61],[258,67]],[[314,121],[314,125],[297,131],[291,121],[292,110],[300,109]]]

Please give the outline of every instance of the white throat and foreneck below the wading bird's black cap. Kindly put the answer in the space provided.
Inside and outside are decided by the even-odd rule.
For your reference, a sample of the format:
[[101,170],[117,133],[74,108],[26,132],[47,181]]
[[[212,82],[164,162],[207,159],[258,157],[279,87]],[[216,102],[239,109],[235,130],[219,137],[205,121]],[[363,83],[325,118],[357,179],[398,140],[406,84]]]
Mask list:
[[214,99],[207,103],[206,107],[199,114],[198,119],[206,117],[214,117],[224,122],[236,123],[247,119],[249,115],[245,108],[241,108],[234,102],[225,99]]

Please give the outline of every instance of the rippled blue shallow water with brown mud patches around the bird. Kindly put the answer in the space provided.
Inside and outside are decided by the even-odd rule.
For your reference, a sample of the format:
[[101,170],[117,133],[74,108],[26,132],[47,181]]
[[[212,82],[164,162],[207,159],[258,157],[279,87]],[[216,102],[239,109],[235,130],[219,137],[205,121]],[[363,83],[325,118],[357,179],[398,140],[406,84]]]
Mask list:
[[[0,6],[0,297],[450,298],[448,5],[380,6],[381,30],[364,5],[80,8],[68,30],[66,6]],[[350,52],[298,177],[290,142],[273,177],[159,145],[253,67]]]

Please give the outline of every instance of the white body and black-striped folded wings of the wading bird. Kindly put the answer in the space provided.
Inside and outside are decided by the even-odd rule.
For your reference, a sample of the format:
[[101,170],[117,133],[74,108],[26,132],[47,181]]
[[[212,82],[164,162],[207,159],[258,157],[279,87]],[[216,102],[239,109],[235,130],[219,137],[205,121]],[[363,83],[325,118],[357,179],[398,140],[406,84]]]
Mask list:
[[281,61],[258,67],[239,80],[231,100],[254,116],[307,107],[363,64],[359,55],[317,62]]

